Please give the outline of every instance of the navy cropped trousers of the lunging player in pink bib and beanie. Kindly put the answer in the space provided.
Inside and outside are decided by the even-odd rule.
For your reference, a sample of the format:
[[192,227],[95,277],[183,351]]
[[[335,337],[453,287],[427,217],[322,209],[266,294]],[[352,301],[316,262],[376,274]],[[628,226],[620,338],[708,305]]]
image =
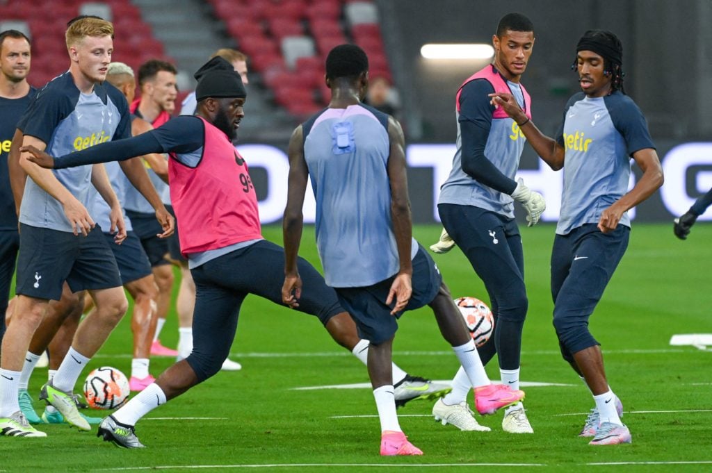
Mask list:
[[[309,264],[299,258],[303,289],[296,310],[312,314],[326,324],[344,312],[334,289]],[[240,307],[247,294],[282,304],[284,250],[261,240],[246,248],[216,257],[194,267],[196,298],[193,312],[193,351],[187,358],[199,381],[220,370],[235,338]]]

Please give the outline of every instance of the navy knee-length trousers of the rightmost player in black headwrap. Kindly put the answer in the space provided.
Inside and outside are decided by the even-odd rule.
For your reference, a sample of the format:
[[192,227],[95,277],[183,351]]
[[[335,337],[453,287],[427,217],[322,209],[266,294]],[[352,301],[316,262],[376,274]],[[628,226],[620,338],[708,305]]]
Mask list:
[[588,319],[628,248],[629,238],[630,228],[625,225],[602,233],[595,223],[554,238],[553,323],[565,357],[599,344],[588,330]]

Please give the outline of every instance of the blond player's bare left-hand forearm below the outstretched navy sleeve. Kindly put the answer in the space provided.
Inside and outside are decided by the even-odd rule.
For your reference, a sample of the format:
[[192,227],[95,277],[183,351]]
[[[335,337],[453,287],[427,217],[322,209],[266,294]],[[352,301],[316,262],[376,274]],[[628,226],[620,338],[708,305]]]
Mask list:
[[46,193],[56,198],[56,200],[62,204],[64,214],[68,218],[70,225],[72,225],[73,233],[75,235],[79,233],[88,235],[91,229],[94,228],[95,223],[87,209],[62,185],[52,171],[43,169],[31,161],[30,157],[33,155],[26,151],[28,147],[43,152],[46,144],[39,138],[28,135],[23,136],[19,159],[21,168],[38,186],[43,188]]

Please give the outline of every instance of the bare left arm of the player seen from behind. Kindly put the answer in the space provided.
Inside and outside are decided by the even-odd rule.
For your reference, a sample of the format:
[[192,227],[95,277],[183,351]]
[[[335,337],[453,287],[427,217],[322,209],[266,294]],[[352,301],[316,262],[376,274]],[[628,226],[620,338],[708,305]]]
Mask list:
[[289,307],[299,307],[298,299],[302,292],[302,280],[299,276],[297,260],[299,244],[302,240],[304,216],[304,193],[307,189],[309,169],[304,159],[303,129],[298,126],[289,140],[289,179],[287,187],[287,205],[282,220],[284,240],[284,284],[282,302]]

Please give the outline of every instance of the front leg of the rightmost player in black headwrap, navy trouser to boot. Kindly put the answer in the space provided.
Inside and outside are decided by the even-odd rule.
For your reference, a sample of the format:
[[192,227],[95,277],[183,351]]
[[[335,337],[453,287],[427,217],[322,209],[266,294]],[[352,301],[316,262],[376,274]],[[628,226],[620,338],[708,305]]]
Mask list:
[[557,293],[554,326],[562,351],[571,354],[572,366],[579,368],[596,403],[600,424],[591,444],[627,443],[630,432],[617,412],[617,396],[608,385],[600,344],[588,329],[588,319],[625,253],[629,228],[619,225],[604,234],[596,225],[583,225],[570,238],[574,256]]

